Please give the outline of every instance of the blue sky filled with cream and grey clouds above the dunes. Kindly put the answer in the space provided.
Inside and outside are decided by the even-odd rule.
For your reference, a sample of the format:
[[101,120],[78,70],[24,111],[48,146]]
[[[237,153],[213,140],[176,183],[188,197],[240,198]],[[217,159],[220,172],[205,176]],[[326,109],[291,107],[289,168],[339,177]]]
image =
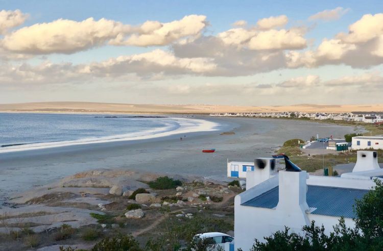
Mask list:
[[381,104],[383,1],[3,1],[0,104]]

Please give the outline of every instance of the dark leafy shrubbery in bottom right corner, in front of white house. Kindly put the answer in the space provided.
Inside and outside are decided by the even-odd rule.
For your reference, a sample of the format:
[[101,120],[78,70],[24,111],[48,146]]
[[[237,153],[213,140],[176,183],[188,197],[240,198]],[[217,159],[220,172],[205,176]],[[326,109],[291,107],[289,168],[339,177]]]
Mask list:
[[311,225],[302,228],[303,236],[290,233],[285,227],[284,231],[265,237],[265,243],[255,240],[251,250],[382,250],[383,212],[380,209],[383,207],[383,184],[379,180],[375,183],[375,189],[355,203],[357,218],[353,229],[347,228],[341,218],[334,231],[326,235],[323,225],[318,227],[312,221]]

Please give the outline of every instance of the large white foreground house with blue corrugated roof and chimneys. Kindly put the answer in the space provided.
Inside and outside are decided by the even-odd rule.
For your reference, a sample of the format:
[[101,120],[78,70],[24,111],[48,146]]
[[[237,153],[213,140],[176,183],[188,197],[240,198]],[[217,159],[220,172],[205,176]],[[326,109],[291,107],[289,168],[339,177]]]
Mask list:
[[[374,154],[366,154],[366,158],[374,158]],[[369,163],[377,163],[377,159],[360,162],[362,171],[353,172],[358,175],[351,178],[345,174],[308,175],[306,171],[292,169],[295,165],[290,160],[285,162],[289,168],[278,173],[271,165],[262,169],[255,165],[254,171],[247,172],[246,191],[234,199],[234,250],[249,250],[254,239],[264,241],[264,237],[284,230],[284,226],[301,233],[302,227],[312,220],[317,225],[323,224],[326,234],[342,216],[347,227],[353,227],[355,199],[362,198],[374,186],[372,179],[383,175],[383,169],[370,167]],[[263,179],[256,181],[250,177]],[[269,178],[265,180],[265,177]]]

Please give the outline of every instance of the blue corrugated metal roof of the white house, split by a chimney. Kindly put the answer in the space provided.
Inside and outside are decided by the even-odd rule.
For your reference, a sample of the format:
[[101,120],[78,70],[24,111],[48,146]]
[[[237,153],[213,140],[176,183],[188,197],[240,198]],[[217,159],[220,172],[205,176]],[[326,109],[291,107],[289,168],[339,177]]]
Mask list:
[[[312,214],[355,218],[352,205],[368,190],[308,185],[306,201],[310,208],[317,208]],[[278,204],[279,187],[274,187],[241,204],[258,208],[275,208]]]

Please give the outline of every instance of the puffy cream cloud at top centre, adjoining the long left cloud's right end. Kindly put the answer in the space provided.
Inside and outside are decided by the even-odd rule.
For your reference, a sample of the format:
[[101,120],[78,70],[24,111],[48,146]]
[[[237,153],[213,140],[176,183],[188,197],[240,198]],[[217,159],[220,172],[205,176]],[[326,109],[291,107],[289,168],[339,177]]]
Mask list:
[[123,35],[110,41],[112,45],[166,45],[188,36],[199,36],[207,26],[206,16],[189,15],[181,20],[160,23],[147,21],[127,39]]

